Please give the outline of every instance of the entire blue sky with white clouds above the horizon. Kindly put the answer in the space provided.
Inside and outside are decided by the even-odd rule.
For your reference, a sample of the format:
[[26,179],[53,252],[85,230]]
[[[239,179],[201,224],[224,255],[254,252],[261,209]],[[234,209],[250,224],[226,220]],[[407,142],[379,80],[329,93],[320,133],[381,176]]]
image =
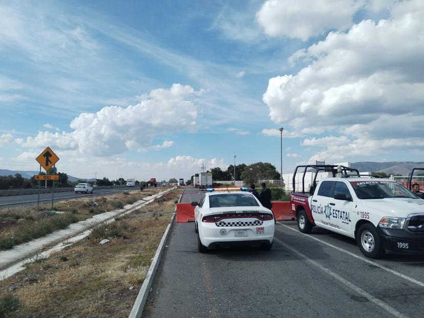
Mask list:
[[420,1],[0,1],[0,168],[422,161]]

